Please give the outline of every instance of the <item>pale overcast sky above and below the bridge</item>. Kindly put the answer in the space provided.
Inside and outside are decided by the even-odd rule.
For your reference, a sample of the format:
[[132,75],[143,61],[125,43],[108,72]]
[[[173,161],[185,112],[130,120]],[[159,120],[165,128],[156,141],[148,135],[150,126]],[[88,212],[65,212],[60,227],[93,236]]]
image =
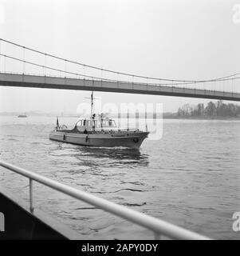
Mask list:
[[[171,79],[218,78],[240,72],[240,24],[232,20],[236,3],[0,0],[0,37],[111,70]],[[6,70],[12,69],[6,62]],[[0,111],[74,113],[89,95],[87,91],[1,87]],[[162,102],[164,112],[176,111],[187,102],[209,101],[100,92],[96,96],[103,102]]]

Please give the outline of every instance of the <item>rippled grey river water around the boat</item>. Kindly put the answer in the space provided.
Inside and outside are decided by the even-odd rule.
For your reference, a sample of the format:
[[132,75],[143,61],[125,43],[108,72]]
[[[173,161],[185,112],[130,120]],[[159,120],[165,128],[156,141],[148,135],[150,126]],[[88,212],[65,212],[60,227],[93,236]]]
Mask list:
[[[240,211],[240,121],[166,119],[163,137],[145,140],[140,151],[53,142],[54,125],[50,117],[0,117],[1,159],[210,238],[240,238],[232,229]],[[26,178],[1,169],[0,185],[29,200]],[[57,191],[36,183],[33,191],[35,206],[84,239],[153,238]]]

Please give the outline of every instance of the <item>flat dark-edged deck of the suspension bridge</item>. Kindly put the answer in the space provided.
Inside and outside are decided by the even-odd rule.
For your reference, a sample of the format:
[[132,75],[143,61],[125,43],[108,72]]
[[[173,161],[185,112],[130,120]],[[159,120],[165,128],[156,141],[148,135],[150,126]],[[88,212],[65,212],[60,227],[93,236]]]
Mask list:
[[199,90],[175,86],[157,86],[137,82],[110,82],[77,78],[61,78],[32,74],[0,73],[0,86],[50,88],[64,90],[95,90],[128,94],[151,94],[188,98],[213,98],[240,101],[240,94],[218,90]]

